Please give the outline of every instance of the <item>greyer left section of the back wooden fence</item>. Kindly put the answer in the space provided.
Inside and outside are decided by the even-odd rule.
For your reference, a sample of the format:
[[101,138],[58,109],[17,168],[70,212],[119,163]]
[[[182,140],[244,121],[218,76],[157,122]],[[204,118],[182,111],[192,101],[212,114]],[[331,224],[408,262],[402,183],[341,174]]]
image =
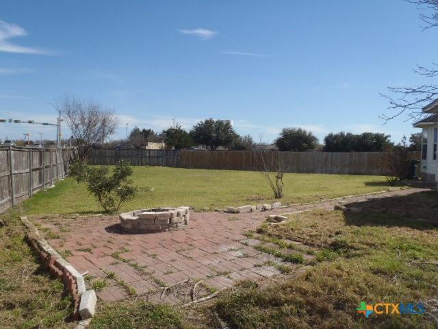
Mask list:
[[92,149],[89,164],[116,164],[126,160],[136,166],[179,167],[179,151],[166,149]]

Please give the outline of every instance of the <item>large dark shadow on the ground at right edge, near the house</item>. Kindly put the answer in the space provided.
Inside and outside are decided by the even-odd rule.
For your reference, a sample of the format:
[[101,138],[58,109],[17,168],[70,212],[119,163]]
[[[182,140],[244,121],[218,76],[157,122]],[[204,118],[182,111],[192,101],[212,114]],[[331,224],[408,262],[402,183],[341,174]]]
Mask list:
[[[438,228],[438,193],[425,191],[410,195],[375,197],[361,202],[348,202],[345,212],[348,225],[405,227],[415,230]],[[357,210],[359,209],[359,210]]]

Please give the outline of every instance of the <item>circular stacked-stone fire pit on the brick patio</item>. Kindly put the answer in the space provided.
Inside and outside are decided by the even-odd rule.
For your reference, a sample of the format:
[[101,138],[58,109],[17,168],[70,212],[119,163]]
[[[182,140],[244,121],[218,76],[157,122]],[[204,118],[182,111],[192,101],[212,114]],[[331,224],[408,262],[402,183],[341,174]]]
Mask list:
[[133,210],[119,215],[124,232],[155,233],[182,228],[189,224],[189,207]]

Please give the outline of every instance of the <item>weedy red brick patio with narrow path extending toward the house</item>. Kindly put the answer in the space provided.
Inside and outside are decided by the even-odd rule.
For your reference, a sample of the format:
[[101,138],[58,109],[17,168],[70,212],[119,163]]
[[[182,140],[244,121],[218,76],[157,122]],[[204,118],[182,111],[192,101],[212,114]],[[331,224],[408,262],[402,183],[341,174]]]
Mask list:
[[[348,200],[360,202],[419,191],[422,190],[413,188]],[[255,230],[267,215],[314,208],[333,209],[335,203],[329,201],[251,214],[192,212],[188,227],[153,234],[123,234],[117,216],[40,219],[40,223],[60,234],[62,239],[52,239],[49,243],[62,252],[70,252],[67,260],[74,267],[81,272],[88,271],[88,276],[106,278],[110,282],[109,287],[98,293],[102,300],[123,300],[129,296],[126,287],[133,287],[148,300],[160,301],[159,294],[163,290],[160,286],[187,278],[192,282],[203,279],[205,289],[222,289],[241,280],[259,280],[279,274],[273,266],[257,266],[266,260],[278,260],[254,249],[259,241],[246,238],[244,232]],[[108,279],[110,272],[127,286]],[[177,296],[181,291],[166,295],[164,300],[181,302]],[[209,293],[208,289],[204,291],[204,294]]]

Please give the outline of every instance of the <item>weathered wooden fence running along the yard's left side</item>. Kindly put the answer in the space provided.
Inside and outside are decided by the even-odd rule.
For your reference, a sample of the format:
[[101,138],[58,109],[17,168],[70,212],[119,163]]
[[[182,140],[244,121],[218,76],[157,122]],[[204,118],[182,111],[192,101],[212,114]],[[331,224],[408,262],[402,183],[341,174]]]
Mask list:
[[64,178],[75,151],[0,146],[0,212]]

